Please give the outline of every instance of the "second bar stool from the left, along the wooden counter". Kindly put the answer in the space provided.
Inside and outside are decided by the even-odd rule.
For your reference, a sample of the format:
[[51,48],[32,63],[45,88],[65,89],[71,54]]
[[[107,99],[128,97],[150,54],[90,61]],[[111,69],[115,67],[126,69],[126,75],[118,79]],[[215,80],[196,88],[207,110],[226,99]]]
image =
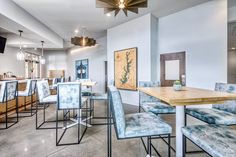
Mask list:
[[[30,113],[30,115],[23,115],[19,117],[32,117],[36,113],[36,108],[34,109],[33,112],[33,96],[36,92],[36,83],[37,80],[27,80],[27,85],[26,89],[24,91],[18,91],[18,97],[24,97],[24,111],[21,111],[19,113]],[[26,98],[30,97],[30,109],[27,110],[27,103],[26,103]]]

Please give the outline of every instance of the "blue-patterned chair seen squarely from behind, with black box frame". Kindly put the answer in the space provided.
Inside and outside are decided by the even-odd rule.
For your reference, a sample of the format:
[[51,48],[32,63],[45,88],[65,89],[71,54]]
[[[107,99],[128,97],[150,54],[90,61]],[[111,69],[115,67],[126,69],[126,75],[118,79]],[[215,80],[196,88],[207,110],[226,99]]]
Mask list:
[[[85,112],[87,114],[87,98],[82,97],[81,84],[76,82],[70,83],[59,83],[57,87],[57,114],[56,114],[56,145],[72,145],[79,144],[87,130],[87,120],[82,119],[82,109],[86,105]],[[59,111],[63,111],[63,133],[58,137],[58,124],[59,124]],[[76,115],[70,114],[71,112],[77,111]],[[67,125],[67,121],[75,122]],[[77,126],[78,138],[75,142],[61,144],[61,140],[66,133],[67,129]],[[84,126],[84,131],[80,134],[81,126]],[[81,137],[80,137],[81,135]]]

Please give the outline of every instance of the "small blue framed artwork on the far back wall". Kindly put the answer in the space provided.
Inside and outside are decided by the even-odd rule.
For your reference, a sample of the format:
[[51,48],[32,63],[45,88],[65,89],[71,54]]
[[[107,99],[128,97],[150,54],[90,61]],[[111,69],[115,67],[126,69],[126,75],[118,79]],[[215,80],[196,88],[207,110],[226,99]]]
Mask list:
[[88,59],[75,61],[75,76],[76,79],[89,78],[89,61]]

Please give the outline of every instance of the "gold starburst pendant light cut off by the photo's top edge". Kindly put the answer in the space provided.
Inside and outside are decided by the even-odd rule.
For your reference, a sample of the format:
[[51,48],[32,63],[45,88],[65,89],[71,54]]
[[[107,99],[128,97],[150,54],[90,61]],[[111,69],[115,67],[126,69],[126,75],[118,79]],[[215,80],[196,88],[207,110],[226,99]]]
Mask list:
[[104,8],[104,13],[115,11],[115,16],[123,10],[126,16],[128,11],[138,14],[139,8],[147,8],[148,0],[96,0],[97,8]]

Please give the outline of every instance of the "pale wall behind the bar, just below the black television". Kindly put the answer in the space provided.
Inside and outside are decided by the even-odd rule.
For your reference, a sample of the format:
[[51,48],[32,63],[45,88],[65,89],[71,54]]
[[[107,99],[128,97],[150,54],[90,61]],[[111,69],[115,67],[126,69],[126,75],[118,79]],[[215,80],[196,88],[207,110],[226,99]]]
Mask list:
[[25,65],[22,61],[17,61],[16,53],[19,49],[5,47],[4,53],[0,53],[0,75],[8,71],[16,76],[25,76]]

